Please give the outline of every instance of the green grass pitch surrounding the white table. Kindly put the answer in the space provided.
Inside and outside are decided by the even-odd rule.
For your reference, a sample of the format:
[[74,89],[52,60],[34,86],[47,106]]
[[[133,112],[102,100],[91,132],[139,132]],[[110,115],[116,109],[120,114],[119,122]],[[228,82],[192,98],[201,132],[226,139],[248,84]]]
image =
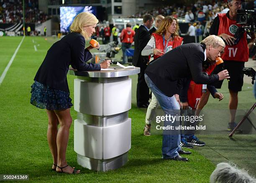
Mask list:
[[[3,73],[22,37],[0,37],[0,75]],[[74,125],[70,129],[67,162],[81,170],[78,175],[59,174],[51,171],[52,158],[46,140],[47,115],[44,109],[30,104],[33,78],[47,50],[57,39],[26,37],[0,85],[0,174],[29,174],[33,182],[195,182],[207,183],[215,165],[233,162],[256,175],[256,135],[200,135],[205,147],[194,147],[192,155],[184,155],[189,162],[161,159],[161,135],[143,136],[146,109],[136,107],[136,80],[132,79],[131,150],[128,163],[117,170],[96,172],[77,164],[74,152]],[[37,51],[34,49],[37,47]],[[119,54],[120,55],[120,54]],[[67,76],[70,97],[74,99],[75,76]],[[225,99],[210,99],[206,109],[228,108],[227,82],[224,82]],[[249,109],[255,102],[250,84],[244,84],[239,93],[239,109]],[[111,94],[111,97],[114,97]],[[228,112],[228,110],[226,110]],[[74,107],[71,108],[76,119]],[[226,114],[228,115],[228,113]],[[255,122],[255,117],[253,118]],[[216,116],[216,121],[222,119]],[[227,122],[222,122],[223,126]],[[125,130],[125,129],[123,129]]]

